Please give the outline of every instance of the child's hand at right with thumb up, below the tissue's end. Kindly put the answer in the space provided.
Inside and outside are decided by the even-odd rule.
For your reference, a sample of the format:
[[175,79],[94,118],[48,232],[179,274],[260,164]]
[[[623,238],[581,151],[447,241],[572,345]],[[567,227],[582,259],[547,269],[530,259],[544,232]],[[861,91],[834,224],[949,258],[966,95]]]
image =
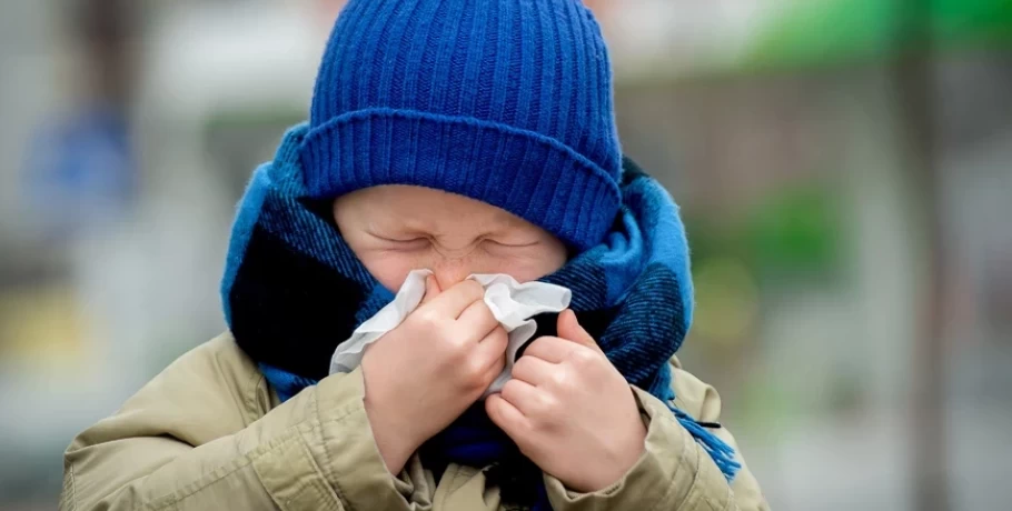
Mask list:
[[527,348],[485,409],[542,470],[593,492],[636,463],[646,428],[629,384],[572,311],[559,314],[558,334]]

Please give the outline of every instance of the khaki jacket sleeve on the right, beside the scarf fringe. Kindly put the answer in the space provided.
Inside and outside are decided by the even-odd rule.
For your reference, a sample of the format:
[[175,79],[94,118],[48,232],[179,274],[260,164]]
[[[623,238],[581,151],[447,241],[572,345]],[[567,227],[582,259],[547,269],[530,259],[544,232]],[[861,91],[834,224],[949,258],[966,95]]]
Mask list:
[[[718,422],[721,398],[710,387],[677,367],[675,404],[701,422]],[[674,418],[667,405],[646,391],[633,388],[647,424],[646,449],[626,475],[594,492],[576,493],[546,475],[552,507],[556,511],[642,509],[669,511],[768,511],[758,482],[745,465],[731,433],[723,427],[713,433],[734,448],[742,463],[732,483]]]

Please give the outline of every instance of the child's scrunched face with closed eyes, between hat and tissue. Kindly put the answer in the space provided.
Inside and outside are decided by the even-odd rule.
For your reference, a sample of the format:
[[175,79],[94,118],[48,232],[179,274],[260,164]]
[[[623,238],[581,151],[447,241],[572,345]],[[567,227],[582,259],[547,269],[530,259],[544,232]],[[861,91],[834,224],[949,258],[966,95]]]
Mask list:
[[421,187],[367,188],[338,198],[334,219],[345,241],[387,289],[427,268],[444,290],[473,273],[537,280],[566,262],[563,243],[509,212]]

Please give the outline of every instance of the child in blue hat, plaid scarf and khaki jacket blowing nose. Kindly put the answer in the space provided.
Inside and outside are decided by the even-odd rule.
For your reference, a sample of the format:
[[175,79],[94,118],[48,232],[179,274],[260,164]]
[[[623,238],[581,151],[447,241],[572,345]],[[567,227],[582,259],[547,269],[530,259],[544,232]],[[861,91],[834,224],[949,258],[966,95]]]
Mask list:
[[[766,509],[673,358],[684,230],[611,82],[578,0],[349,1],[240,204],[229,333],[75,439],[61,509]],[[421,304],[328,375],[415,269]],[[485,400],[506,332],[475,273],[573,293]]]

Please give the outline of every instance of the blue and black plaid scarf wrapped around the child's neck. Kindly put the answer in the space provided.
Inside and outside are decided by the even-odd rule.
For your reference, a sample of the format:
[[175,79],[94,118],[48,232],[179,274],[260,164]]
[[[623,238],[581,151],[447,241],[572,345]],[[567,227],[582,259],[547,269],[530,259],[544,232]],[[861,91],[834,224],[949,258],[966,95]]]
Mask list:
[[[330,355],[394,298],[341,239],[331,203],[308,198],[298,149],[305,124],[285,134],[272,162],[256,170],[239,204],[221,294],[236,341],[285,401],[327,377]],[[542,280],[573,290],[571,308],[629,383],[672,409],[728,480],[741,467],[732,449],[674,407],[668,359],[692,321],[692,280],[677,207],[626,160],[623,208],[598,247]],[[554,334],[555,317],[539,317]],[[493,467],[504,499],[548,509],[540,472],[473,407],[421,449],[438,473],[450,462]],[[502,470],[494,470],[500,468]]]

